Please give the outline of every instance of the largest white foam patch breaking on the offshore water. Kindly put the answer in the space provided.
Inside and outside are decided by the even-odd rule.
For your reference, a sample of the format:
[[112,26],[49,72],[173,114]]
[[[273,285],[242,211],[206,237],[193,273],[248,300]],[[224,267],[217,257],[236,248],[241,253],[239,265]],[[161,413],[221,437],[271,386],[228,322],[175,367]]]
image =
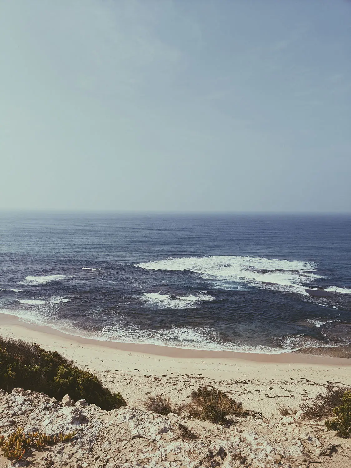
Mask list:
[[164,260],[138,263],[146,270],[192,271],[202,278],[228,284],[246,284],[254,287],[299,292],[307,295],[304,284],[321,276],[315,274],[313,262],[251,256],[171,257]]

